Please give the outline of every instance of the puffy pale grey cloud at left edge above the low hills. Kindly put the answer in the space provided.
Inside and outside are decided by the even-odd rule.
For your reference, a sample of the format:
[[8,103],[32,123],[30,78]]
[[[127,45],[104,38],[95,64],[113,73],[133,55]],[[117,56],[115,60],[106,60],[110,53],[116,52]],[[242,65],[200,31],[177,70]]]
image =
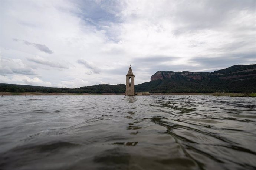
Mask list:
[[36,75],[36,72],[24,64],[21,59],[0,58],[0,74]]

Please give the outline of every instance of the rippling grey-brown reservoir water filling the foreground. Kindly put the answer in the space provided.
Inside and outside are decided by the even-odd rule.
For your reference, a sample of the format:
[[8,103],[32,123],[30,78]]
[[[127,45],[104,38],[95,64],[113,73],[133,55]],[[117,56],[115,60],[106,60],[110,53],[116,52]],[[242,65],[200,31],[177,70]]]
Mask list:
[[0,169],[256,169],[256,98],[4,96]]

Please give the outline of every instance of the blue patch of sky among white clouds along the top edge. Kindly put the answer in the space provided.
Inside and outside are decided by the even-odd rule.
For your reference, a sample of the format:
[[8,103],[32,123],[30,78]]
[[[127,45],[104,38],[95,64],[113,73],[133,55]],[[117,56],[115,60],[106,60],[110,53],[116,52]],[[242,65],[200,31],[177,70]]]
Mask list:
[[73,13],[81,18],[87,26],[91,26],[96,30],[104,30],[109,40],[119,41],[120,30],[113,30],[112,26],[116,26],[123,21],[120,13],[122,7],[126,4],[125,1],[75,0],[73,3],[77,7]]

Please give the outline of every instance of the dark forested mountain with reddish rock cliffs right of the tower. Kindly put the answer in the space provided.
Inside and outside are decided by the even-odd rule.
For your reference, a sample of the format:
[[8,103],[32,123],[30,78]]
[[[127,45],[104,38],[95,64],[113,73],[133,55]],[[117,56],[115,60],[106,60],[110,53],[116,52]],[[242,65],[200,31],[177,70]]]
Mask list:
[[135,91],[256,92],[256,64],[234,65],[214,72],[158,71],[151,81],[135,85]]

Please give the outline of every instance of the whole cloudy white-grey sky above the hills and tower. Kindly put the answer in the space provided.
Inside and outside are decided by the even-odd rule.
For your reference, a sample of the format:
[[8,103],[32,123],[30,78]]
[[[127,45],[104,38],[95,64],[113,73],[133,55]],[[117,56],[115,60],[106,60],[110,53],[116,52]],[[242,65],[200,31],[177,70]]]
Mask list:
[[0,83],[135,84],[256,64],[256,0],[0,0]]

